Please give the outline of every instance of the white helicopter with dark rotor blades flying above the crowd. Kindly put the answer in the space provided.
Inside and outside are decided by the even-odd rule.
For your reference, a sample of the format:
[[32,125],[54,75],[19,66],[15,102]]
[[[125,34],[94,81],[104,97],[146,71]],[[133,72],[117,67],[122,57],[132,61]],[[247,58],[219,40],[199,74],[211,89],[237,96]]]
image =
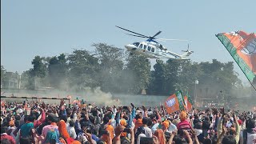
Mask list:
[[[120,26],[116,26],[119,29],[126,30]],[[146,36],[143,34],[135,33],[131,30],[126,30],[133,34],[128,34],[134,37],[140,37],[140,38],[149,38],[145,42],[134,42],[133,44],[126,45],[126,49],[130,51],[130,54],[141,54],[144,55],[146,58],[172,58],[172,59],[182,59],[182,60],[189,60],[190,58],[187,58],[190,56],[190,54],[194,53],[194,51],[189,50],[189,46],[187,50],[182,50],[185,52],[184,54],[175,54],[174,52],[171,52],[166,49],[166,47],[162,46],[162,44],[154,41],[160,40],[172,40],[172,41],[187,41],[187,40],[180,40],[180,39],[166,39],[166,38],[155,38],[158,34],[160,34],[162,31],[158,31],[157,34],[154,34],[154,36]],[[134,35],[137,34],[137,35]]]

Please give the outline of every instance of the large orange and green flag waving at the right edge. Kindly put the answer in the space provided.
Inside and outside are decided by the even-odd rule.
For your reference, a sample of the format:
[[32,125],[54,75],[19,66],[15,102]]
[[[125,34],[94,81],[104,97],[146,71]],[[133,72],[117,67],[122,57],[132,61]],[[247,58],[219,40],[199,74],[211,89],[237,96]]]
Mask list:
[[216,34],[250,82],[256,81],[256,34],[244,31]]

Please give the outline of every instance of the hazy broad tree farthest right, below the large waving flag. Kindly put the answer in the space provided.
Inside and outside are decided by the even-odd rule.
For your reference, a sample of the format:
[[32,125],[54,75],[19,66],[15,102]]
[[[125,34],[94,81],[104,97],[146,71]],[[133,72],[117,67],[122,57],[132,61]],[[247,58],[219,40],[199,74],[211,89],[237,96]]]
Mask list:
[[210,62],[201,62],[199,64],[203,74],[198,78],[199,95],[202,98],[213,98],[217,102],[230,102],[236,89],[242,87],[238,74],[234,72],[233,62],[218,62],[213,59]]

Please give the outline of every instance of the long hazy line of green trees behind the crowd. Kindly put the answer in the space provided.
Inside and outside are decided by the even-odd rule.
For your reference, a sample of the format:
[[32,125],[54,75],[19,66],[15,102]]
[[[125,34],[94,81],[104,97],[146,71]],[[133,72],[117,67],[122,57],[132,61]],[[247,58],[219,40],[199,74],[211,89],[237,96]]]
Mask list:
[[[177,90],[204,97],[241,92],[242,82],[234,71],[233,62],[192,62],[190,60],[157,59],[150,61],[140,55],[106,43],[94,43],[94,51],[74,50],[71,54],[53,57],[35,56],[30,70],[22,73],[23,89],[40,86],[58,90],[84,90],[101,87],[105,92],[122,94],[170,95]],[[4,75],[1,66],[1,79]],[[195,81],[198,80],[198,84]],[[197,86],[197,88],[195,88]]]

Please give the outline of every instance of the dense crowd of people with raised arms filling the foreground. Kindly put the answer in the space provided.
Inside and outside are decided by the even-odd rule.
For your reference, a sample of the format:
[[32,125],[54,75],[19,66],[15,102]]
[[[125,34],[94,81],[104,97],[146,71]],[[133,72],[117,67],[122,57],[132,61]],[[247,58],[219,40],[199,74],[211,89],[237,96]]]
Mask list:
[[256,144],[255,111],[2,102],[1,143]]

